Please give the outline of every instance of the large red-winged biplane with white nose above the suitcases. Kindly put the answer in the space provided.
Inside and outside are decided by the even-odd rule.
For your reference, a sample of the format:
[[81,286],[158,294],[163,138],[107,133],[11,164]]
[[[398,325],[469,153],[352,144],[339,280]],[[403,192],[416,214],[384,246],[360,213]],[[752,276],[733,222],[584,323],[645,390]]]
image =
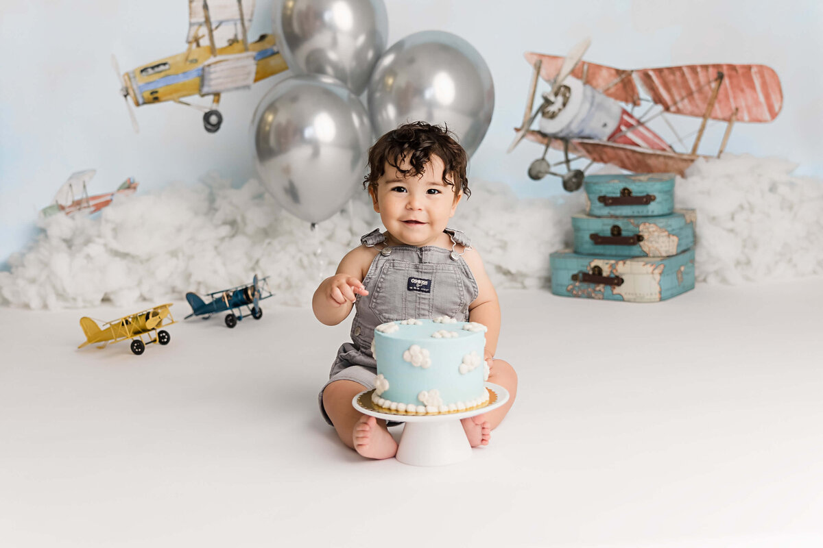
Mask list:
[[[769,122],[783,106],[780,80],[764,65],[623,70],[584,61],[588,45],[584,40],[565,58],[525,53],[534,71],[523,123],[515,128],[517,135],[509,146],[511,152],[524,137],[543,145],[542,157],[529,166],[528,176],[537,180],[556,175],[567,191],[583,184],[584,173],[593,163],[610,163],[635,173],[682,175],[701,157],[698,146],[709,119],[727,122],[719,157],[736,122]],[[542,94],[542,103],[532,113],[538,76],[551,83],[551,90]],[[641,89],[648,97],[641,96]],[[635,117],[632,111],[643,102],[651,105]],[[701,119],[690,147],[684,142],[688,136],[677,134],[668,114]],[[538,129],[532,130],[537,117]],[[684,151],[678,152],[649,128],[648,123],[658,117],[667,122]],[[563,159],[549,163],[550,148],[562,150]],[[588,159],[588,165],[573,169],[571,164],[579,159]],[[558,165],[565,165],[566,173],[555,173]]]

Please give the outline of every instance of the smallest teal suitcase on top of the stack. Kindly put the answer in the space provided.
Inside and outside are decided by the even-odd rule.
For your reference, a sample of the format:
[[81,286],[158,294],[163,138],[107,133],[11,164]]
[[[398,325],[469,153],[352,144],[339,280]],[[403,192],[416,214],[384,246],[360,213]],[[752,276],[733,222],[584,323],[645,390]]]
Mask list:
[[589,175],[586,211],[594,217],[651,217],[674,210],[673,173]]

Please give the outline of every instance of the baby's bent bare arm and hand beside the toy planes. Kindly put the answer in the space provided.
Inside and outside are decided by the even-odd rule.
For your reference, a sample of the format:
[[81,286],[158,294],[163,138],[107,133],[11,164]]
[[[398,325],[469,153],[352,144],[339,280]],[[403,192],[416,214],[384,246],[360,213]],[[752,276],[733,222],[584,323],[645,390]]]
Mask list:
[[314,315],[325,325],[337,325],[351,312],[355,293],[368,295],[363,287],[365,271],[370,265],[370,254],[365,246],[359,246],[346,253],[337,274],[324,279],[314,292],[312,309]]

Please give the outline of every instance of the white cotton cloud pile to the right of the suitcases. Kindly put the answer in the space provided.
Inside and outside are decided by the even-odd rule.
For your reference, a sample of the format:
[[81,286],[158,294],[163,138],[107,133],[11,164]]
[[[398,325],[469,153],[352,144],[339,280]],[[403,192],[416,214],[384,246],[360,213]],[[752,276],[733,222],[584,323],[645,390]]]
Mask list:
[[823,182],[783,159],[724,154],[677,178],[675,204],[697,210],[695,278],[747,283],[823,274]]

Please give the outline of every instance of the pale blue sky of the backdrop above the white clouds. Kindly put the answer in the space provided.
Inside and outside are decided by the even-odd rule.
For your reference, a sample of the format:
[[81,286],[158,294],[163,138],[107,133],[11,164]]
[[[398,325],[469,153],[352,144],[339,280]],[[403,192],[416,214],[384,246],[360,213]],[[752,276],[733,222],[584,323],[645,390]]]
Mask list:
[[[823,51],[823,5],[773,2],[545,2],[544,0],[386,0],[388,44],[419,30],[448,30],[481,53],[495,81],[495,113],[472,158],[470,176],[509,184],[520,196],[561,192],[556,180],[532,182],[528,163],[539,155],[524,143],[505,149],[523,117],[531,67],[527,50],[564,54],[584,36],[586,58],[615,67],[702,62],[762,63],[783,85],[783,111],[770,124],[738,124],[729,152],[779,156],[796,173],[823,176],[817,70]],[[258,2],[250,35],[271,31],[272,1]],[[225,122],[202,129],[201,113],[174,104],[137,108],[141,133],[128,122],[119,81],[123,71],[185,48],[183,0],[106,2],[3,0],[0,8],[0,264],[36,233],[37,211],[67,176],[96,168],[90,191],[114,189],[136,177],[138,192],[193,181],[215,169],[236,184],[253,177],[249,121],[258,100],[285,72],[252,90],[226,94]],[[721,133],[721,131],[715,131]],[[720,136],[704,140],[712,150]]]

